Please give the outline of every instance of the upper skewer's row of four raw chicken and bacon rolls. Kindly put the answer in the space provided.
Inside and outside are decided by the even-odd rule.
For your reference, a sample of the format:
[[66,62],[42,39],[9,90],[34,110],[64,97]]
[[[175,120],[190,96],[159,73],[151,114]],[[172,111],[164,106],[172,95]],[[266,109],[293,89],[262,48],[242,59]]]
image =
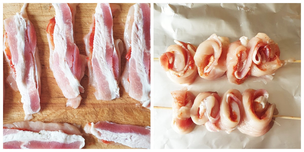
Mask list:
[[[174,42],[179,41],[174,40]],[[196,48],[195,46],[190,43],[179,43],[191,47],[188,50],[187,47],[172,49],[176,45],[171,45],[159,60],[171,81],[180,84],[189,85],[194,81],[196,67],[199,76],[204,79],[215,80],[226,72],[228,80],[239,85],[250,75],[256,77],[271,75],[282,66],[278,44],[265,33],[258,33],[250,40],[243,36],[233,43],[230,43],[227,37],[212,34],[197,49],[192,49],[194,50],[192,54],[188,52],[190,48]],[[181,50],[181,53],[173,53],[176,50]],[[186,53],[183,53],[183,50]],[[192,58],[196,66],[190,66]],[[192,70],[191,73],[184,74],[188,68]]]

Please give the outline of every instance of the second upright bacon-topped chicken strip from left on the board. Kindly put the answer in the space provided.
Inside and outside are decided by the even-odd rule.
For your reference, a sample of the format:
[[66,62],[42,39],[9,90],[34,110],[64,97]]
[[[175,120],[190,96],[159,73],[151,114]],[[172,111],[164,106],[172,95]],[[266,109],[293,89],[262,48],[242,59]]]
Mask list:
[[84,88],[80,81],[84,76],[86,60],[79,54],[74,43],[73,24],[77,4],[53,3],[56,16],[47,26],[50,47],[50,68],[63,95],[68,98],[67,106],[77,108]]

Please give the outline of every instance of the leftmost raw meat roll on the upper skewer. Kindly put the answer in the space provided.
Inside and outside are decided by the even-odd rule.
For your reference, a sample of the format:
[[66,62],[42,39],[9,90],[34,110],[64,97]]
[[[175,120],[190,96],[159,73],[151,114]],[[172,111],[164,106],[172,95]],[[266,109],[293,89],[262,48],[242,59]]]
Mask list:
[[196,47],[190,43],[174,40],[175,45],[159,57],[159,62],[166,71],[171,81],[179,84],[190,85],[197,76],[197,67],[193,56]]

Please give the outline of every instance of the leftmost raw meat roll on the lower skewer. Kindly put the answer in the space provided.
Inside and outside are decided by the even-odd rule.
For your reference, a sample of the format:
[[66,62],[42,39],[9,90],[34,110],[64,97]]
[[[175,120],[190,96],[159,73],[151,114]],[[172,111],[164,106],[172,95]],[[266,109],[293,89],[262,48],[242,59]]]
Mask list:
[[195,127],[195,123],[193,123],[190,116],[190,110],[195,96],[187,90],[188,89],[184,87],[181,90],[171,92],[173,97],[173,119],[171,126],[175,132],[180,134],[190,133]]

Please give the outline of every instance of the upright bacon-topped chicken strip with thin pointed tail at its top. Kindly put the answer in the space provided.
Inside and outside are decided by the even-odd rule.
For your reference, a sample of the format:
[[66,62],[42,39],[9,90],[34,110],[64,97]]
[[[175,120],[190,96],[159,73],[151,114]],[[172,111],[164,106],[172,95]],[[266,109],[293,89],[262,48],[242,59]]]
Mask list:
[[26,7],[27,3],[20,13],[4,20],[3,52],[11,67],[7,80],[21,94],[25,119],[31,119],[31,114],[40,111],[41,65],[36,32],[28,19]]

